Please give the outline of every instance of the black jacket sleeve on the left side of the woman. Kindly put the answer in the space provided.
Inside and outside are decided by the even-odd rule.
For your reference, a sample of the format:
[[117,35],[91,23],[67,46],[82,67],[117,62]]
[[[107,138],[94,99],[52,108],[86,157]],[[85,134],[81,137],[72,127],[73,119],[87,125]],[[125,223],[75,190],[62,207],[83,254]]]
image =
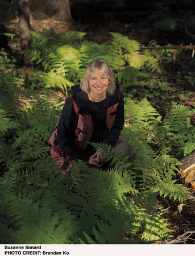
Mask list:
[[77,122],[78,117],[74,112],[73,100],[72,98],[68,97],[57,125],[56,141],[63,153],[67,154],[70,159],[81,159],[86,161],[89,158],[89,155],[86,154],[82,148],[78,148],[77,144],[73,140]]

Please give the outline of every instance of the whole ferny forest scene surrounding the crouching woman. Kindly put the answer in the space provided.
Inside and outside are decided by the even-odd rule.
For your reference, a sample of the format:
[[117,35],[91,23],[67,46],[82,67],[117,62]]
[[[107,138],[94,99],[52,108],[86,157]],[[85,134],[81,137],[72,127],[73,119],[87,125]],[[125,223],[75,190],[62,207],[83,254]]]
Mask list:
[[[1,243],[194,243],[193,5],[0,0]],[[94,143],[112,167],[78,160],[91,174],[78,181],[53,164],[48,139],[98,58],[123,93],[122,137],[136,154],[126,163]]]

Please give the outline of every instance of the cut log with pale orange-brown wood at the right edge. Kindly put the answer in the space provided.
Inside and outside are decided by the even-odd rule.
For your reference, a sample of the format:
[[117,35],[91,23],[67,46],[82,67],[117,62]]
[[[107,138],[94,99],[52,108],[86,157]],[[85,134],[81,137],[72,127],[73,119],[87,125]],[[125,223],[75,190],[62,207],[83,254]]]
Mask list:
[[181,159],[179,169],[184,184],[195,188],[195,151]]

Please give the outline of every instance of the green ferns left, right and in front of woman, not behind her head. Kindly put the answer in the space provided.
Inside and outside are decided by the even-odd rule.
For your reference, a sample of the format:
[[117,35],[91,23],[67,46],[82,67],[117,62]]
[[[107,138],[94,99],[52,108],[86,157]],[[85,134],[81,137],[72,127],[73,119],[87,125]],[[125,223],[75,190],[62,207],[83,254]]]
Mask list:
[[[135,162],[126,163],[127,156],[93,143],[112,161],[111,168],[98,170],[78,161],[72,177],[66,177],[53,164],[47,142],[63,107],[59,98],[48,90],[39,96],[24,94],[12,72],[0,79],[1,243],[146,243],[170,237],[172,230],[155,209],[156,196],[182,203],[188,189],[175,179],[179,161],[152,145],[161,145],[159,137],[168,129],[172,142],[179,144],[174,118],[168,125],[168,118],[162,121],[146,99],[139,104],[128,100],[131,122],[123,138],[135,147]],[[20,108],[19,97],[31,108]],[[186,113],[184,106],[173,106]]]

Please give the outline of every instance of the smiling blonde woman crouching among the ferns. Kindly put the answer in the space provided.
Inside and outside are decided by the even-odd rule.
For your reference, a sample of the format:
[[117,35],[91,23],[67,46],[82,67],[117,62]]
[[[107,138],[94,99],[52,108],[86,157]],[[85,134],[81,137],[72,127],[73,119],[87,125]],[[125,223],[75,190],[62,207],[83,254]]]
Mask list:
[[[52,158],[63,174],[72,160],[81,159],[96,167],[105,167],[101,151],[88,142],[101,142],[134,158],[134,148],[122,141],[124,124],[123,95],[115,85],[113,72],[106,61],[93,60],[85,69],[81,85],[72,86],[57,127],[49,139]],[[59,167],[59,168],[60,168]]]

